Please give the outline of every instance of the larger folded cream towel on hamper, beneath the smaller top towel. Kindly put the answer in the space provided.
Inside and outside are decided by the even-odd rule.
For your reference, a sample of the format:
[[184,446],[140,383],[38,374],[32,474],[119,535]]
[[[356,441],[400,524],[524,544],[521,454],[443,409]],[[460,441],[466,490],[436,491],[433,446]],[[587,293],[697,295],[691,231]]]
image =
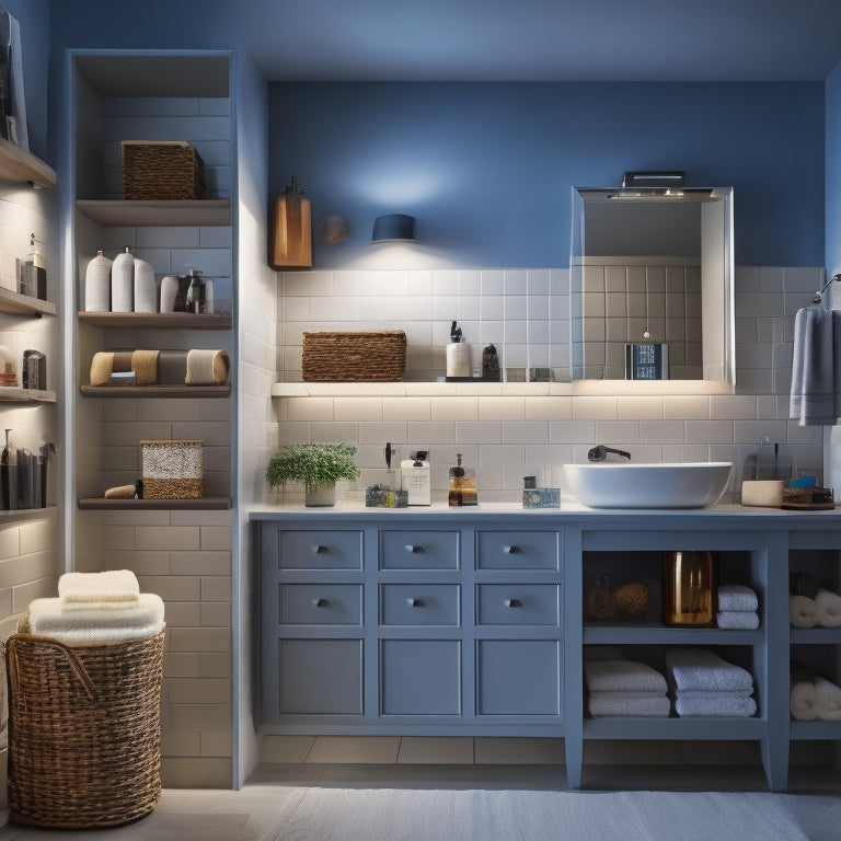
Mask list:
[[138,629],[163,623],[163,600],[142,592],[134,608],[117,610],[64,610],[61,599],[34,599],[30,603],[30,633],[55,636],[62,632]]

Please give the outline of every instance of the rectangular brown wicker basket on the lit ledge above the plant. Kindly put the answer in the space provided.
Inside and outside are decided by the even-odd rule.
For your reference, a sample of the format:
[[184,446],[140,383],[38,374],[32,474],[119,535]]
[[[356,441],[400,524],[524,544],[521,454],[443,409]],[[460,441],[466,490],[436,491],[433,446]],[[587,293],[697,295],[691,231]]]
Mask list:
[[405,369],[402,330],[303,334],[301,376],[306,381],[396,381]]

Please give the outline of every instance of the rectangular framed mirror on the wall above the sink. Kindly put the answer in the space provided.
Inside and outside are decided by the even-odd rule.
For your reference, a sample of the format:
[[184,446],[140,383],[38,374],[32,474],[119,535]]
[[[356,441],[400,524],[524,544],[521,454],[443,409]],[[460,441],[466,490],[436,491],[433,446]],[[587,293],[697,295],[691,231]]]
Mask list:
[[733,191],[573,191],[573,379],[735,383]]

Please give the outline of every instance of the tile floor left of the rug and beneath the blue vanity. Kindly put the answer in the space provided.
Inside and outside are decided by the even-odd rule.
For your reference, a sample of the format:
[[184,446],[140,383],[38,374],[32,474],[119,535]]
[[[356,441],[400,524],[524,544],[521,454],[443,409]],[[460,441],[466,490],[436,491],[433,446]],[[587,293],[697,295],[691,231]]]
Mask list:
[[[640,764],[641,756],[647,764]],[[168,788],[154,811],[134,825],[71,834],[96,841],[261,841],[284,802],[300,788],[563,790],[562,757],[558,739],[268,737],[266,761],[241,791]],[[757,758],[750,742],[595,742],[588,745],[584,786],[767,792]],[[806,752],[793,764],[788,792],[841,798],[841,774],[810,759]],[[0,841],[69,837],[60,830],[0,826]]]

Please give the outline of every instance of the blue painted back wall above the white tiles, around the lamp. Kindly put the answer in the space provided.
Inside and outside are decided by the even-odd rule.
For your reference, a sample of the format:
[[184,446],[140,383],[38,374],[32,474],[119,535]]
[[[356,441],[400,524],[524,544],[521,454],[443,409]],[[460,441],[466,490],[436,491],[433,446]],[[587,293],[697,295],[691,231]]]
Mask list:
[[736,261],[823,265],[825,85],[281,83],[269,85],[269,198],[297,175],[313,222],[344,216],[318,266],[357,262],[373,218],[417,217],[456,265],[566,266],[573,186],[681,169],[735,187]]

